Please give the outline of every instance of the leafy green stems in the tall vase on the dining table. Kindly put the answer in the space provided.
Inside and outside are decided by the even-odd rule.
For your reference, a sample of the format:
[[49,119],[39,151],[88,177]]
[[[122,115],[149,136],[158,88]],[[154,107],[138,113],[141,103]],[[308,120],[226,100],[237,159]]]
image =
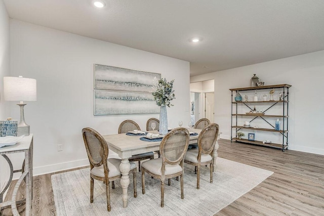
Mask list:
[[152,95],[156,101],[156,105],[168,107],[174,106],[171,104],[171,101],[176,98],[174,90],[172,90],[174,79],[168,82],[166,78],[157,80],[156,77],[154,77],[153,80],[155,81],[155,84],[152,87]]

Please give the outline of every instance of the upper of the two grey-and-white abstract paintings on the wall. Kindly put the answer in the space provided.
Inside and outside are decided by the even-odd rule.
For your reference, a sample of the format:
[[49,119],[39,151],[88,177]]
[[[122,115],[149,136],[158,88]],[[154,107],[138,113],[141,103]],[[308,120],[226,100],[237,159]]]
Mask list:
[[94,88],[103,90],[151,92],[153,78],[161,78],[160,73],[150,73],[119,67],[95,64]]

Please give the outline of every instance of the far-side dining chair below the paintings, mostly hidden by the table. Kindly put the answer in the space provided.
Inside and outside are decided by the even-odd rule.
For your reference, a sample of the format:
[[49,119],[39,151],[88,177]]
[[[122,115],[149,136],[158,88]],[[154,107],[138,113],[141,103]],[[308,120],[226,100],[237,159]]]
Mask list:
[[[124,133],[127,133],[129,131],[134,131],[134,130],[140,131],[141,128],[135,121],[125,120],[119,124],[118,134],[124,134]],[[147,152],[147,153],[133,155],[128,160],[129,161],[138,161],[138,170],[141,171],[141,160],[153,159],[153,158],[154,158],[154,153]]]

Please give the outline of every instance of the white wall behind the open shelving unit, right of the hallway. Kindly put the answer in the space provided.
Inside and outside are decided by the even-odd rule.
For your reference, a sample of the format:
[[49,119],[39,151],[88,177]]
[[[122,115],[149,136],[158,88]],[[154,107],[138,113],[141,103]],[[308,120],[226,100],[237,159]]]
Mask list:
[[324,51],[190,77],[190,82],[215,79],[215,122],[221,138],[230,139],[231,88],[250,87],[257,74],[265,85],[291,84],[289,149],[324,155],[321,98]]

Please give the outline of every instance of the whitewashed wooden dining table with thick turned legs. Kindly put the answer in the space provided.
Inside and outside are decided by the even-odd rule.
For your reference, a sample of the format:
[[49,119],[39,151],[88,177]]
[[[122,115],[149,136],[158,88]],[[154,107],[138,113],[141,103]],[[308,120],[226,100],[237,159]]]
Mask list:
[[[197,143],[198,135],[201,132],[201,129],[190,128],[190,132],[194,132],[194,136],[190,136],[189,145]],[[149,131],[147,133],[158,134],[158,131]],[[120,185],[123,188],[123,206],[127,207],[128,201],[128,186],[130,184],[129,172],[131,169],[131,164],[129,158],[132,155],[152,152],[159,150],[161,141],[147,142],[140,140],[142,136],[130,136],[129,133],[126,134],[112,134],[112,135],[103,135],[103,138],[106,140],[109,151],[113,151],[121,158],[121,163],[119,169],[121,172]],[[216,142],[214,148],[214,170],[216,169],[216,158],[217,158],[217,149],[218,143]]]

